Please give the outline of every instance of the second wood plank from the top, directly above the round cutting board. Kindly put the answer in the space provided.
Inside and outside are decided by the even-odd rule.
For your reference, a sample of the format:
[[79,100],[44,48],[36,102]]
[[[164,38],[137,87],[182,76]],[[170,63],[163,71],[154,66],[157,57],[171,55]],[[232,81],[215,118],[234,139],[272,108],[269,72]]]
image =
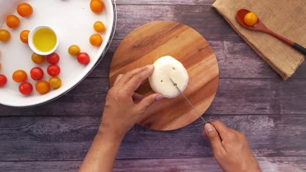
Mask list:
[[117,6],[115,39],[123,39],[135,28],[156,21],[188,25],[206,40],[241,40],[234,29],[210,6]]

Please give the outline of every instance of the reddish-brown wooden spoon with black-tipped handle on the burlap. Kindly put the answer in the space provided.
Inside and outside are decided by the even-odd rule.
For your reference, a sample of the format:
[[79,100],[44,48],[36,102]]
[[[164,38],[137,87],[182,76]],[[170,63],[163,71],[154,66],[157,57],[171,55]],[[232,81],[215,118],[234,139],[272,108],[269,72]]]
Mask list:
[[256,23],[255,25],[253,25],[253,26],[247,25],[247,24],[245,23],[245,21],[244,21],[244,18],[245,18],[245,15],[248,14],[248,13],[250,13],[249,10],[241,9],[241,10],[239,10],[239,11],[237,12],[237,14],[236,14],[236,18],[237,18],[238,22],[239,22],[242,26],[244,26],[244,27],[246,27],[246,28],[248,28],[248,29],[257,30],[257,31],[261,31],[261,32],[265,32],[265,33],[267,33],[267,34],[270,34],[270,35],[276,37],[277,39],[279,39],[279,40],[285,42],[286,44],[290,45],[291,47],[295,48],[295,49],[298,50],[299,52],[301,52],[301,53],[303,53],[303,54],[306,55],[306,48],[304,48],[304,47],[298,45],[298,44],[295,43],[295,42],[292,42],[292,41],[288,40],[287,38],[284,38],[284,37],[282,37],[282,36],[280,36],[280,35],[278,35],[278,34],[272,32],[270,29],[268,29],[268,28],[261,22],[261,20],[258,19],[257,23]]

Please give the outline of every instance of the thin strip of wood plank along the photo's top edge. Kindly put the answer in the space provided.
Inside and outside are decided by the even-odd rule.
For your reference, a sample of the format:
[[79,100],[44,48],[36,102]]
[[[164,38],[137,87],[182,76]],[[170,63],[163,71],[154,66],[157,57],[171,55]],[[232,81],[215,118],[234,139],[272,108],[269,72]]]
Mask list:
[[117,5],[196,5],[211,6],[215,0],[117,0]]

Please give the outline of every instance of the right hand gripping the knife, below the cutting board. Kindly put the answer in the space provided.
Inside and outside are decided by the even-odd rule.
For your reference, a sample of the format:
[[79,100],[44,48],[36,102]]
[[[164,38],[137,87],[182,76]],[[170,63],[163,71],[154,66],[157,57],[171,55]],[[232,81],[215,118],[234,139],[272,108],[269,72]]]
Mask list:
[[215,159],[224,171],[261,171],[244,133],[227,128],[220,121],[204,126]]

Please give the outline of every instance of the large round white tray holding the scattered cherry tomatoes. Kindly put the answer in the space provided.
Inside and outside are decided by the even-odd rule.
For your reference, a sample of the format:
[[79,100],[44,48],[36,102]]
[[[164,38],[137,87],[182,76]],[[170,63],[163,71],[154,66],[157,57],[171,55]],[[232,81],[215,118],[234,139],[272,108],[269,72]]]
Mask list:
[[[0,74],[5,74],[8,82],[0,88],[0,104],[27,107],[43,104],[54,100],[65,94],[84,79],[90,71],[101,60],[101,54],[105,51],[111,41],[112,29],[114,24],[114,9],[111,0],[102,0],[105,9],[101,14],[95,14],[90,10],[90,1],[54,1],[54,0],[0,0],[0,29],[7,29],[11,33],[11,40],[8,42],[0,41],[0,62],[2,68]],[[17,13],[17,6],[20,3],[29,3],[33,7],[33,14],[29,18],[23,18]],[[20,26],[16,29],[10,29],[5,24],[7,15],[13,14],[19,17]],[[96,33],[93,25],[96,21],[102,21],[105,24],[106,31],[101,34],[103,43],[100,47],[94,47],[89,43],[89,37]],[[31,30],[38,25],[51,26],[60,39],[56,53],[60,56],[58,62],[61,72],[58,75],[62,80],[61,88],[50,90],[45,95],[40,95],[35,90],[34,81],[30,77],[30,70],[39,66],[44,70],[42,80],[48,81],[51,76],[46,69],[48,62],[41,65],[32,62],[33,51],[28,44],[20,41],[19,35],[23,30]],[[81,52],[90,55],[91,61],[88,65],[80,64],[77,58],[68,54],[70,45],[78,45]],[[23,96],[19,93],[20,83],[12,79],[12,74],[18,69],[23,69],[28,74],[28,82],[33,84],[33,93],[30,96]],[[90,90],[89,90],[90,92]]]

